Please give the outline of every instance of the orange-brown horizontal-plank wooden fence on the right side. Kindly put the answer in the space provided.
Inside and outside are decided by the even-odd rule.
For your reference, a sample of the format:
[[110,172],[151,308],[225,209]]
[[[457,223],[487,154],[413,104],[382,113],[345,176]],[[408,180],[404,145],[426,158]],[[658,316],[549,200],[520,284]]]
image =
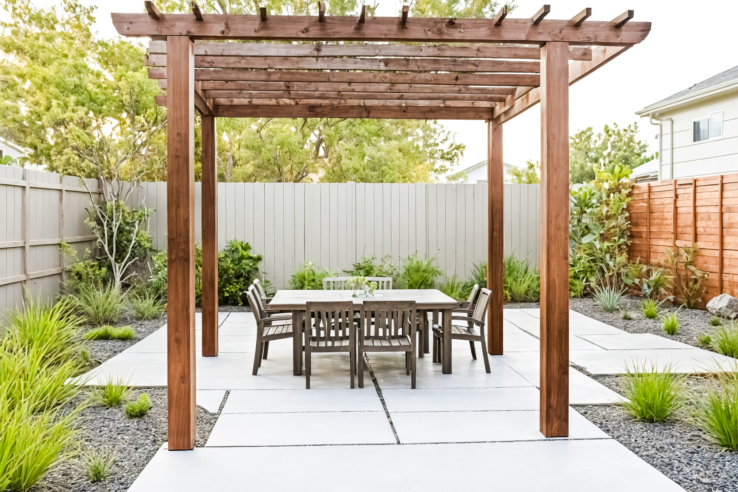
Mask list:
[[663,260],[666,248],[697,243],[696,266],[710,272],[708,302],[738,291],[738,174],[635,184],[629,260]]

